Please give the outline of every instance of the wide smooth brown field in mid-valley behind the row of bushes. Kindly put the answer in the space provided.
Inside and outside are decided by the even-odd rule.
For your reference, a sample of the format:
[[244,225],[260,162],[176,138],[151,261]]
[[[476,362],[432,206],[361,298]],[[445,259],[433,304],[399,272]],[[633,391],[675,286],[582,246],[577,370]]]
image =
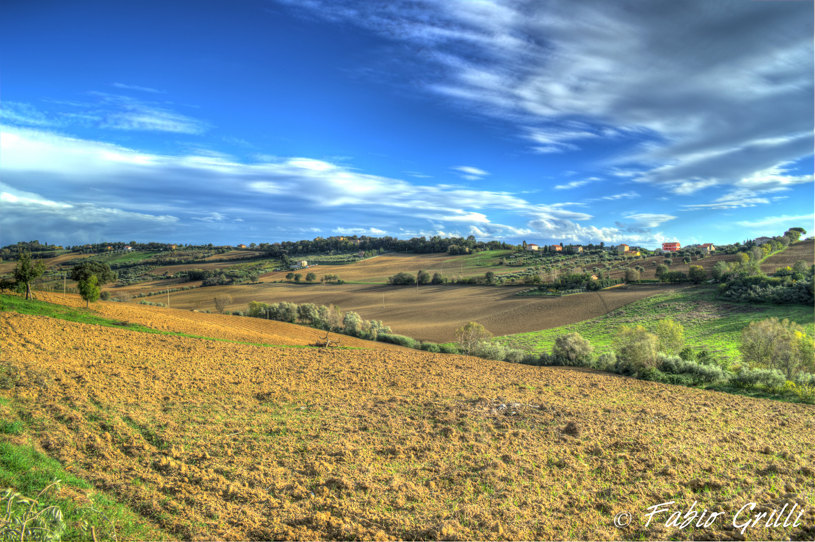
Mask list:
[[[249,302],[293,302],[336,305],[363,319],[382,320],[394,333],[422,341],[449,342],[457,328],[469,321],[495,335],[525,333],[574,324],[614,311],[677,285],[637,286],[565,297],[518,297],[521,288],[474,285],[388,286],[375,284],[238,284],[209,286],[170,294],[170,306],[214,310],[214,297],[232,297],[232,311],[245,311]],[[382,308],[382,296],[385,308]],[[165,296],[153,296],[166,302]],[[200,306],[196,303],[200,302]]]

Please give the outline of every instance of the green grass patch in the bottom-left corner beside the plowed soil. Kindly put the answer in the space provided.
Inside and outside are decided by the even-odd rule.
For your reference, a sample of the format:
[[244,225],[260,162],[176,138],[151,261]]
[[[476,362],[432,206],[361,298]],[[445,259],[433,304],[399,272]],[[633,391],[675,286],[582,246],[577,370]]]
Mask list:
[[79,490],[89,495],[95,508],[109,519],[106,521],[87,505],[79,505],[64,496],[64,490],[62,498],[48,491],[40,498],[40,503],[56,505],[62,510],[67,525],[62,540],[89,540],[90,530],[82,531],[79,527],[81,522],[94,526],[100,540],[112,540],[111,522],[116,527],[118,540],[172,540],[165,531],[149,524],[138,513],[104,492],[96,491],[90,483],[69,473],[57,460],[37,452],[33,446],[0,442],[0,487],[11,487],[24,496],[34,498],[54,478],[62,480],[62,487],[73,490],[70,491],[72,493]]

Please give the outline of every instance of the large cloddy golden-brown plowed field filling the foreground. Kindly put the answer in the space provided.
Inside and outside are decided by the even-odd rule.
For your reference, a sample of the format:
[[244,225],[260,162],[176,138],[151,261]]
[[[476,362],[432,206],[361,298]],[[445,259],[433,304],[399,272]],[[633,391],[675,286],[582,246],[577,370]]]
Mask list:
[[[804,513],[795,527],[765,516],[747,540],[813,537],[807,405],[15,313],[2,345],[39,377],[0,390],[0,416],[182,540],[743,540],[733,518],[751,502],[739,522]],[[722,515],[665,526],[694,502]]]

